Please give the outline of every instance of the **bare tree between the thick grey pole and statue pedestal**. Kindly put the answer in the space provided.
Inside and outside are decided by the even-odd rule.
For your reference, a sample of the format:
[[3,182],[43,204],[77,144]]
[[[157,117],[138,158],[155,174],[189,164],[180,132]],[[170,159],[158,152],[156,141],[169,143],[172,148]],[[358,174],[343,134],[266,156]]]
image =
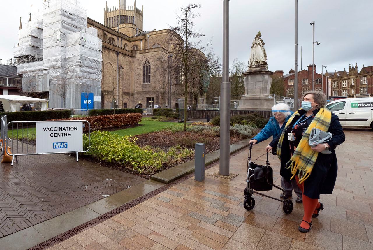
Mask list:
[[229,81],[231,82],[231,96],[233,100],[239,100],[245,93],[244,86],[244,72],[246,65],[244,62],[239,61],[237,58],[233,60],[231,68],[229,68]]

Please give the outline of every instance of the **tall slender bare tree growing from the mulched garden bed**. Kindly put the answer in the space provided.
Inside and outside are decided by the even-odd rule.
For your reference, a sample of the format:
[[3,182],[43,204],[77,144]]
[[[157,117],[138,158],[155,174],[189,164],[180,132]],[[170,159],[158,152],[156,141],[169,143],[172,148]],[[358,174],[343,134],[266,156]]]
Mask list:
[[[188,115],[186,106],[188,104],[188,94],[197,85],[200,86],[200,76],[202,70],[210,72],[212,67],[219,65],[218,58],[211,56],[211,50],[205,55],[202,51],[207,50],[209,43],[202,46],[200,37],[204,34],[195,29],[194,19],[200,14],[195,13],[200,9],[200,4],[188,4],[179,8],[181,14],[177,16],[176,25],[170,28],[169,43],[173,48],[173,58],[175,67],[183,76],[179,82],[184,85],[184,131],[186,131],[186,117]],[[203,73],[204,74],[204,73]],[[197,88],[198,89],[198,88]]]

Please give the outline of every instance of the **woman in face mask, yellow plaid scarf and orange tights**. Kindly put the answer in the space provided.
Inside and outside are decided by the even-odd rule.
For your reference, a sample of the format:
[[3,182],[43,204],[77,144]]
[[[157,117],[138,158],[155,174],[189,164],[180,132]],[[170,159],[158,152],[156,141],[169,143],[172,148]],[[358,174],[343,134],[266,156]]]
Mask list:
[[[308,232],[311,220],[324,209],[320,194],[332,194],[338,164],[335,148],[345,141],[338,116],[325,107],[326,96],[319,91],[304,94],[302,108],[286,122],[285,128],[267,147],[277,147],[280,174],[286,180],[296,179],[303,191],[304,215],[298,230]],[[329,132],[332,137],[310,146],[314,133]],[[312,134],[311,134],[312,133]]]

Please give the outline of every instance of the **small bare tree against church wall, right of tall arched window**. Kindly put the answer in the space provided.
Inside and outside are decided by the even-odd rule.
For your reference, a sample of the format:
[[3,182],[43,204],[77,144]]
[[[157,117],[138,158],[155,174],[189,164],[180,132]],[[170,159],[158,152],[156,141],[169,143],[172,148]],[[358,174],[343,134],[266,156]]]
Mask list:
[[[168,91],[168,73],[169,73],[169,63],[160,57],[158,68],[156,70],[157,88],[156,93],[159,95],[160,103],[162,107],[166,105],[167,91]],[[170,77],[172,77],[170,75]]]

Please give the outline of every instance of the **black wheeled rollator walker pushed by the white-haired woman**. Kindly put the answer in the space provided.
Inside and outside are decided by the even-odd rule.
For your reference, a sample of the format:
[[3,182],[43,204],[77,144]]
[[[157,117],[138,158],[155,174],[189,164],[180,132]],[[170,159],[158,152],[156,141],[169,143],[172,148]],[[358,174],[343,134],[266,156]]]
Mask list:
[[[245,194],[245,201],[244,207],[246,210],[251,210],[255,206],[255,200],[252,197],[253,194],[258,194],[260,196],[265,196],[274,200],[281,201],[283,203],[283,212],[287,215],[290,214],[293,210],[293,202],[289,199],[277,199],[275,197],[268,196],[266,194],[261,194],[257,191],[269,191],[272,190],[273,187],[278,188],[285,194],[285,190],[278,187],[277,185],[273,185],[273,170],[269,166],[268,161],[268,154],[267,152],[267,164],[266,166],[255,164],[251,160],[251,149],[253,149],[253,143],[250,143],[249,147],[249,155],[248,155],[248,163],[247,163],[247,179],[246,179],[246,188],[244,191]],[[276,152],[272,152],[273,155],[276,155]],[[264,154],[263,154],[264,155]],[[261,156],[263,156],[261,155]],[[257,159],[259,159],[259,156]],[[256,190],[256,191],[254,191]]]

